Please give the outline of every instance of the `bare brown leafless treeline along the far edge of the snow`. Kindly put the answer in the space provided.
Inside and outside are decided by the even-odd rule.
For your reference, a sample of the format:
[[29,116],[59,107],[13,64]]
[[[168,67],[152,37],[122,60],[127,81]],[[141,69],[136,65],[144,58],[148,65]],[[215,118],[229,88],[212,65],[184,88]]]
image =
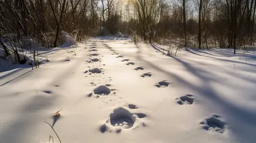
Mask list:
[[121,32],[150,42],[236,49],[255,45],[255,10],[255,0],[0,0],[0,36],[56,47],[62,31],[77,41]]

